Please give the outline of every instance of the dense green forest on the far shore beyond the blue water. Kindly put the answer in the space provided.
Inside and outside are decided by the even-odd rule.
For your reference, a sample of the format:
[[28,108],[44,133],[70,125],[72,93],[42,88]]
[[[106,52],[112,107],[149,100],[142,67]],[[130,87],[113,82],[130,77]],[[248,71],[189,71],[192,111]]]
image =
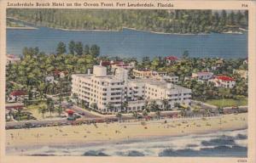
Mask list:
[[[212,10],[119,10],[119,9],[18,9],[9,17],[34,25],[77,30],[137,30],[168,33],[208,33],[247,29],[247,11]],[[8,25],[10,25],[8,21]]]

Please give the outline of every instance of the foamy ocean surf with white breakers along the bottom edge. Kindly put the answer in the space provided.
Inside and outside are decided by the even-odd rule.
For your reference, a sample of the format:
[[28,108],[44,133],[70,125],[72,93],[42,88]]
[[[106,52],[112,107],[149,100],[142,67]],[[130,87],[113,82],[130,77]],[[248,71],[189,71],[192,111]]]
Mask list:
[[247,129],[79,146],[7,149],[7,155],[247,157]]

